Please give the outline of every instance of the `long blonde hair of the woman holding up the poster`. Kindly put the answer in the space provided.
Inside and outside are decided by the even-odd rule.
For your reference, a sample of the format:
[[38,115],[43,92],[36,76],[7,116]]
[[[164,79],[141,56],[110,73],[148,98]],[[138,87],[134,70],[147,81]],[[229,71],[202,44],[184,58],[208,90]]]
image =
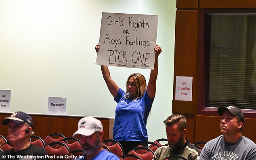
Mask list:
[[[134,80],[135,80],[135,83],[136,83],[136,89],[137,89],[137,96],[136,98],[141,98],[144,93],[146,92],[147,90],[147,82],[146,82],[146,79],[145,77],[140,74],[140,73],[132,73],[128,78],[127,78],[127,81],[128,82],[130,80],[130,78],[133,77]],[[126,85],[126,94],[124,95],[124,98],[127,99],[127,94],[128,94],[128,86]]]

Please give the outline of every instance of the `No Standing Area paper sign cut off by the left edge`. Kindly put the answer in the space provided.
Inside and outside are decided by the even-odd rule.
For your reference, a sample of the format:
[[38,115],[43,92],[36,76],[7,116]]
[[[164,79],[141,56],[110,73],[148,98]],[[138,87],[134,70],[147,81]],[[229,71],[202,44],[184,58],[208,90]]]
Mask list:
[[0,90],[0,111],[10,112],[10,90]]

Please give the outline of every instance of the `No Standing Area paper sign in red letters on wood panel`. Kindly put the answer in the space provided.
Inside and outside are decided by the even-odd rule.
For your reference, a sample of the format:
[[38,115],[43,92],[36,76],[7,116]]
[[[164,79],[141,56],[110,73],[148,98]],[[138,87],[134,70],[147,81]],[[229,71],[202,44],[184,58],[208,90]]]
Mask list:
[[175,100],[192,101],[193,77],[176,76]]

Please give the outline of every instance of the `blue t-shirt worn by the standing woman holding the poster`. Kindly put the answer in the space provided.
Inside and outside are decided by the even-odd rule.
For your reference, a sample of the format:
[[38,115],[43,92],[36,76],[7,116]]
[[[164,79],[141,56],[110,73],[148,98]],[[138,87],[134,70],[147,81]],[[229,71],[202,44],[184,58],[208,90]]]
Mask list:
[[115,121],[113,126],[113,139],[117,141],[146,141],[147,117],[154,98],[149,99],[147,91],[141,98],[131,100],[124,98],[125,91],[119,88],[115,101]]

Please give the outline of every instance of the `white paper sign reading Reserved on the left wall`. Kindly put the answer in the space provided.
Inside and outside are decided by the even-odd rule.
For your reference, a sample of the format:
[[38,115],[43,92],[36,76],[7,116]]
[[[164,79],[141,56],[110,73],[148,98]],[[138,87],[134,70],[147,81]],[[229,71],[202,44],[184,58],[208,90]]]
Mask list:
[[66,115],[67,114],[67,98],[48,97],[48,114]]

